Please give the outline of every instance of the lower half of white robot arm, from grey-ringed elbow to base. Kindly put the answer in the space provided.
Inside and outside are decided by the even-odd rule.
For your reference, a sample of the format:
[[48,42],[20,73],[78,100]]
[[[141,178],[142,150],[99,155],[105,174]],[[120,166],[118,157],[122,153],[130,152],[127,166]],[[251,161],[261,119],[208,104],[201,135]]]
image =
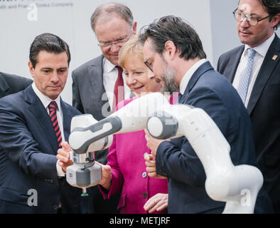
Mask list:
[[251,165],[232,164],[229,143],[204,110],[171,105],[149,118],[147,129],[158,139],[185,135],[203,164],[208,196],[226,202],[223,213],[254,213],[263,184],[262,172]]

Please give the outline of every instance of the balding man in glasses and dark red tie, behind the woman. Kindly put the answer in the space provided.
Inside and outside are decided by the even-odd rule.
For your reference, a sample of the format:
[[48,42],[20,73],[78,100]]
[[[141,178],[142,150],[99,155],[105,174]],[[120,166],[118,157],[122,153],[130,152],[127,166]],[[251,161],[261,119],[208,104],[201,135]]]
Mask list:
[[[109,3],[98,6],[90,19],[102,55],[82,64],[72,72],[72,105],[81,113],[102,120],[114,111],[119,101],[131,97],[119,68],[119,49],[136,33],[136,22],[127,6]],[[120,77],[120,78],[119,78]],[[116,100],[114,90],[119,79],[124,93]],[[107,164],[108,150],[96,152],[96,160]],[[104,200],[97,186],[91,187],[96,213],[117,213],[119,195]]]

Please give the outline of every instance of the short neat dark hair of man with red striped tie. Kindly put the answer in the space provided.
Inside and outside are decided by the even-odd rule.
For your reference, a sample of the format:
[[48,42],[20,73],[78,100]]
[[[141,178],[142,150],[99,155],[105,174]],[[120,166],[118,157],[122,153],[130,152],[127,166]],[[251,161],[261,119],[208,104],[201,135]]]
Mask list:
[[37,56],[40,51],[47,51],[48,53],[63,53],[68,56],[68,66],[71,60],[70,50],[68,44],[62,38],[53,35],[52,33],[43,33],[36,36],[31,43],[29,51],[29,61],[31,61],[33,68],[37,63]]

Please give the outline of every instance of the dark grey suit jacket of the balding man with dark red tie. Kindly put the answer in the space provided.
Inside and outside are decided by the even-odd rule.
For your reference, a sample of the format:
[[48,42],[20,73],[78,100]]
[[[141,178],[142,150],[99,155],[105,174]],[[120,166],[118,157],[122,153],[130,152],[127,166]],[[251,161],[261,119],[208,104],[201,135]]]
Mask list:
[[[96,120],[102,120],[112,114],[103,85],[103,58],[97,58],[82,64],[72,71],[72,105],[81,113],[89,113]],[[107,164],[108,149],[95,153],[95,158]],[[103,199],[97,186],[90,187],[94,211],[92,213],[119,213],[117,205],[119,194]]]

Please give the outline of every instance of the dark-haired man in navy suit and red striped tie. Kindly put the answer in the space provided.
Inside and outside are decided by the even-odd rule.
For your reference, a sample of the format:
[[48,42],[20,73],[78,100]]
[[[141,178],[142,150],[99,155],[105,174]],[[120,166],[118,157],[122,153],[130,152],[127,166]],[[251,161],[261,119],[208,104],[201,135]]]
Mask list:
[[56,158],[80,112],[60,98],[68,78],[68,44],[36,36],[28,67],[33,84],[0,100],[0,213],[77,213],[81,190],[68,185]]

